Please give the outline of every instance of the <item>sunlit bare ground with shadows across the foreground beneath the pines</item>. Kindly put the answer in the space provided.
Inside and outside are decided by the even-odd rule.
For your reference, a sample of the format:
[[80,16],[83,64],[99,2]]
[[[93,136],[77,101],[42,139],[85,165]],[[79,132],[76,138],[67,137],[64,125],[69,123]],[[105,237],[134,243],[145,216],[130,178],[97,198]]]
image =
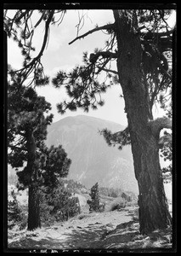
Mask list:
[[25,249],[117,249],[171,248],[170,229],[139,234],[135,207],[122,211],[81,214],[65,223],[35,231],[8,231],[8,248]]

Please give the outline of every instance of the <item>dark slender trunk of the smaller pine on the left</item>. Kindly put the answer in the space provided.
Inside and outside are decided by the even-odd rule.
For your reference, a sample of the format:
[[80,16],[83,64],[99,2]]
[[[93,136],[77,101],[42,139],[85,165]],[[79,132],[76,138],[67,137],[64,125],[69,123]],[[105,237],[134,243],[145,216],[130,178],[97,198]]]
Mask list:
[[28,230],[35,230],[41,227],[39,191],[36,184],[36,143],[33,131],[26,132],[28,160],[26,166],[28,186]]

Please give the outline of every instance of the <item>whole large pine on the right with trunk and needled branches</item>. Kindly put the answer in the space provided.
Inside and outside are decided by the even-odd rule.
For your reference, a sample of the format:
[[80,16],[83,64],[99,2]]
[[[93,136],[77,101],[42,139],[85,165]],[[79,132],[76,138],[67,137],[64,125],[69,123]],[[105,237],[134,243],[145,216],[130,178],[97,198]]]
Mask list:
[[[139,224],[142,234],[165,229],[172,223],[161,173],[159,142],[162,129],[172,129],[172,119],[153,118],[153,106],[158,96],[172,91],[172,48],[175,28],[167,24],[170,9],[114,9],[115,22],[96,26],[77,36],[69,44],[93,32],[104,30],[110,36],[104,50],[94,49],[88,57],[83,53],[83,65],[71,72],[59,71],[52,80],[59,88],[63,84],[71,100],[59,102],[59,113],[82,108],[88,112],[104,105],[102,94],[112,84],[121,84],[127,113],[127,129],[114,134],[119,147],[131,143],[135,177],[139,184]],[[117,69],[111,69],[111,61]],[[106,83],[99,82],[105,73]],[[112,137],[108,136],[108,141]],[[114,143],[113,140],[113,143]]]

